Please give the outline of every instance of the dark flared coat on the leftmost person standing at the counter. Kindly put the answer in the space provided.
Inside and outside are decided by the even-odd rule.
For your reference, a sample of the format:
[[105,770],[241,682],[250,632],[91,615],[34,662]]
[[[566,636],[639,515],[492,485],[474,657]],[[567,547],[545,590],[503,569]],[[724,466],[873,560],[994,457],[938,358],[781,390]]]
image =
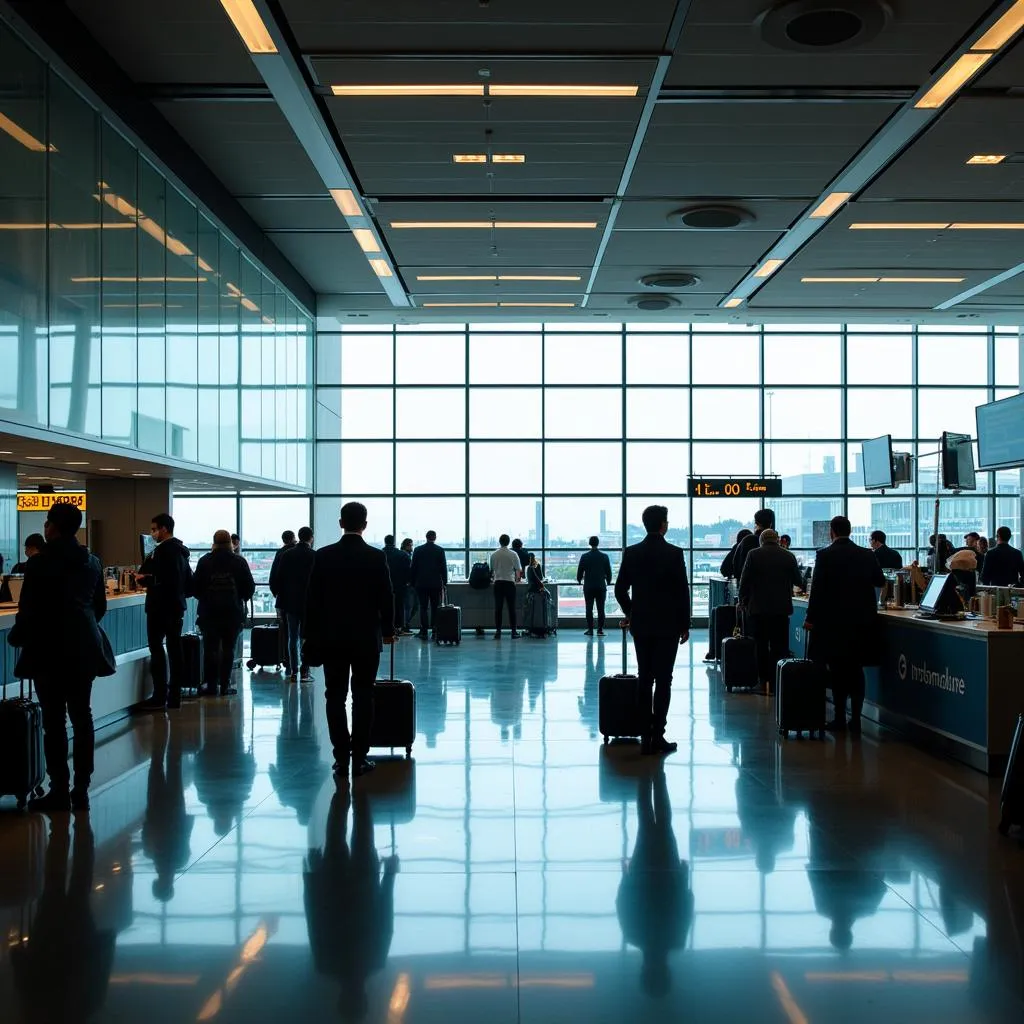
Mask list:
[[20,679],[53,673],[111,676],[116,664],[99,630],[106,591],[99,560],[74,537],[46,544],[25,567],[14,626],[7,635],[20,647]]

